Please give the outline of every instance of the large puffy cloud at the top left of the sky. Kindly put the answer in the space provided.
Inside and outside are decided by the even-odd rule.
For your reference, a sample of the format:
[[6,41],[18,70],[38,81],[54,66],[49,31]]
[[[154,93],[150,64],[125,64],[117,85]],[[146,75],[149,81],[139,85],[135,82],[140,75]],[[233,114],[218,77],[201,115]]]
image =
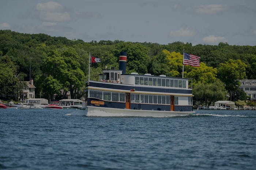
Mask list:
[[70,21],[71,17],[65,8],[56,2],[38,3],[35,7],[38,16],[44,21]]

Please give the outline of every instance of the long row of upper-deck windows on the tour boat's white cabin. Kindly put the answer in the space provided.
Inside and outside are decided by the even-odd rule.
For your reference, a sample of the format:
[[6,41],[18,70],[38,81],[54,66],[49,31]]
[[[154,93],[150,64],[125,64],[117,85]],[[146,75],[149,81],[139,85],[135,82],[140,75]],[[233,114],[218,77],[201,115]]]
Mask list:
[[146,86],[187,88],[186,80],[174,80],[174,79],[163,79],[163,78],[135,77],[135,84],[146,85]]

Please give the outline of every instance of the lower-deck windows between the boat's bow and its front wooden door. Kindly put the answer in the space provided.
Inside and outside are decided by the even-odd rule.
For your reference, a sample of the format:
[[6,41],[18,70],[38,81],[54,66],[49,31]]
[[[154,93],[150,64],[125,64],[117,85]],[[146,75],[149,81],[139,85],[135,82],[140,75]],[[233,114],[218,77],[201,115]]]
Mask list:
[[90,90],[89,96],[91,98],[97,98],[102,100],[108,100],[108,101],[114,101],[114,102],[125,102],[125,93]]

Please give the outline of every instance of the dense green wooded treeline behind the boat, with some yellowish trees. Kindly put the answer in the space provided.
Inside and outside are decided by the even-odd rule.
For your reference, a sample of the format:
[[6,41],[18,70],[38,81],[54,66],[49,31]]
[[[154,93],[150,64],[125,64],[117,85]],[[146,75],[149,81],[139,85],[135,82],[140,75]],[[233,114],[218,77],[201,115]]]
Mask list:
[[[101,40],[84,42],[42,33],[25,34],[0,30],[0,94],[20,94],[24,83],[34,79],[36,96],[72,98],[83,95],[88,80],[89,52],[101,58],[93,64],[90,79],[98,80],[101,69],[117,68],[118,56],[126,51],[127,73],[182,76],[183,51],[200,56],[200,67],[184,67],[184,77],[193,79],[196,100],[214,102],[233,95],[232,100],[247,98],[238,79],[256,79],[256,46],[230,46],[173,42],[169,44]],[[217,88],[217,89],[215,89]],[[217,95],[218,94],[218,95]]]

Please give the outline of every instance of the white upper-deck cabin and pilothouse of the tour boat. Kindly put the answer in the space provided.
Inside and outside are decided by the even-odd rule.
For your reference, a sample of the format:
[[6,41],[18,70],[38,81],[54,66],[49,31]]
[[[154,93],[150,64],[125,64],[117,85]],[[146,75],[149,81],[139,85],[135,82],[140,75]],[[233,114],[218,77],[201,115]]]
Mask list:
[[127,84],[137,87],[160,87],[191,89],[187,78],[166,77],[166,75],[154,76],[151,74],[139,75],[138,73],[122,74],[122,70],[102,70],[100,82]]

